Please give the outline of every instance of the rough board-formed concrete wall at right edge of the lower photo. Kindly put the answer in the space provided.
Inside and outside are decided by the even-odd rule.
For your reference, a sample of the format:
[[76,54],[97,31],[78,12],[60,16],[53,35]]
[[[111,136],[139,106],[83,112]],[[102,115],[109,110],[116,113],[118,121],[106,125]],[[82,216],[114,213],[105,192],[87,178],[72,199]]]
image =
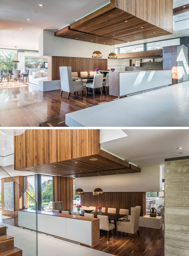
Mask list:
[[165,256],[189,255],[189,159],[165,162]]

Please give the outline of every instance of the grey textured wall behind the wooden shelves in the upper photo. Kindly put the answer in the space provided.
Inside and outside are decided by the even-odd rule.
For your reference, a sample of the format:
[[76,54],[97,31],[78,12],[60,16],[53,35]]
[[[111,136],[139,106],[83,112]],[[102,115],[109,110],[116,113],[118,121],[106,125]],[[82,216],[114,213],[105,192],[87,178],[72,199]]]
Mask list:
[[[148,57],[149,59],[156,58],[156,56]],[[143,57],[145,58],[145,57]],[[141,58],[132,58],[133,60],[143,59]],[[158,58],[158,56],[157,56]],[[131,58],[125,59],[116,59],[116,60],[109,60],[108,59],[108,69],[115,68],[116,71],[125,71],[125,67],[129,66],[129,60]],[[142,68],[136,67],[136,70],[163,70],[163,63],[143,63]]]

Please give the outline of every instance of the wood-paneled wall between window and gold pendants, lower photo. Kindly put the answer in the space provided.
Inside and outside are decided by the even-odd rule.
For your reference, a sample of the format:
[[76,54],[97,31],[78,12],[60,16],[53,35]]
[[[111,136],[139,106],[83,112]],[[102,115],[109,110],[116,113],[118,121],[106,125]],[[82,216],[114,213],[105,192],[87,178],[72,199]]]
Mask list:
[[63,201],[63,209],[73,209],[73,178],[54,176],[54,201]]

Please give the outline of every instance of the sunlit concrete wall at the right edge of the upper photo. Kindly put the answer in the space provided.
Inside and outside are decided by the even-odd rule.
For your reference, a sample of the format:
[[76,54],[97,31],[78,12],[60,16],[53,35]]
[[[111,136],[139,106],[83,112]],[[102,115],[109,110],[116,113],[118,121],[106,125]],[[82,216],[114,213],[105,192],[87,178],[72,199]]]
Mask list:
[[188,47],[177,46],[178,83],[188,81]]

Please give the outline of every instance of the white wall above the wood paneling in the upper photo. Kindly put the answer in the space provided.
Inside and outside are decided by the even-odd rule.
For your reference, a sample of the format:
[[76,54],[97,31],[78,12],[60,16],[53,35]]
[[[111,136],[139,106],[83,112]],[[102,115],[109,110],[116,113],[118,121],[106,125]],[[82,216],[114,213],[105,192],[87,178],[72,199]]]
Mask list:
[[[56,37],[54,32],[48,30],[39,32],[39,56],[92,58],[96,50],[95,43]],[[98,50],[102,52],[102,59],[107,59],[112,46],[98,44]]]

